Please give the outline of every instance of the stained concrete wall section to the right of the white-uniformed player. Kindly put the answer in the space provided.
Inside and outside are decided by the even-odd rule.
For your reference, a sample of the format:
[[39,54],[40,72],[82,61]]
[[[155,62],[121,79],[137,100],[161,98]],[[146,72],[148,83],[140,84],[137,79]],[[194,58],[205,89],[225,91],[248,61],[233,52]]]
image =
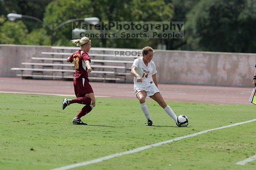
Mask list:
[[157,51],[154,58],[159,82],[174,84],[252,86],[256,63],[246,53]]

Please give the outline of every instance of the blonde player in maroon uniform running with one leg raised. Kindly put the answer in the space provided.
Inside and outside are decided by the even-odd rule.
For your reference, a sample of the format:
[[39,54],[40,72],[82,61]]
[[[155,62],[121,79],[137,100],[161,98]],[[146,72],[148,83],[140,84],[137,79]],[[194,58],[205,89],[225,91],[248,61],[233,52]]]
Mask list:
[[73,85],[76,98],[64,98],[62,109],[64,110],[68,105],[73,103],[84,104],[85,106],[80,110],[78,115],[74,117],[72,123],[87,125],[86,123],[83,123],[80,118],[95,107],[95,96],[88,79],[88,73],[92,71],[90,66],[91,59],[88,54],[91,49],[91,40],[87,37],[83,37],[81,39],[72,40],[72,43],[76,44],[76,46],[80,46],[80,50],[67,58],[67,62],[73,62],[75,66]]

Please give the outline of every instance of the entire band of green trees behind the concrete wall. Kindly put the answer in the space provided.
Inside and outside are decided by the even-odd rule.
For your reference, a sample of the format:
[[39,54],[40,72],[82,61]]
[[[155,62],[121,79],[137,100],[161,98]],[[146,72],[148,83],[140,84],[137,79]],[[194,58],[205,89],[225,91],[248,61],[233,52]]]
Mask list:
[[[8,13],[39,18],[6,19]],[[255,53],[256,0],[0,0],[0,43],[70,46],[74,18],[100,21],[184,21],[183,39],[94,38],[93,46]]]

